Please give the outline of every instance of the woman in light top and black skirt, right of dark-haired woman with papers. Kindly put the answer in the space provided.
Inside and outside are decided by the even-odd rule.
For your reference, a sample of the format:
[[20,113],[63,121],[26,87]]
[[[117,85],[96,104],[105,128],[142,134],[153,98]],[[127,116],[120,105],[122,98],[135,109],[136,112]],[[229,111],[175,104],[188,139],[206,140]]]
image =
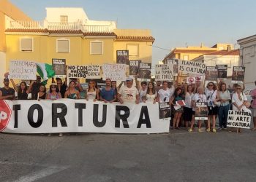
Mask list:
[[194,97],[193,93],[193,87],[192,84],[187,85],[184,90],[185,94],[185,106],[184,106],[184,114],[183,114],[183,119],[185,122],[186,127],[189,127],[189,122],[192,121],[192,115],[193,115],[193,110],[192,110],[192,98]]

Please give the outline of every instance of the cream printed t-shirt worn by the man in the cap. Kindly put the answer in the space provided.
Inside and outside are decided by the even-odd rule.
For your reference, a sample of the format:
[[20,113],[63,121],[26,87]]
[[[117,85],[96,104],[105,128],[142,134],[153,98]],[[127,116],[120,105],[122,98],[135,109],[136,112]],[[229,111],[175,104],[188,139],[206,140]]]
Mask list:
[[134,86],[130,88],[123,86],[118,90],[118,94],[121,95],[121,99],[124,101],[124,103],[135,103],[136,95],[138,95],[139,92]]

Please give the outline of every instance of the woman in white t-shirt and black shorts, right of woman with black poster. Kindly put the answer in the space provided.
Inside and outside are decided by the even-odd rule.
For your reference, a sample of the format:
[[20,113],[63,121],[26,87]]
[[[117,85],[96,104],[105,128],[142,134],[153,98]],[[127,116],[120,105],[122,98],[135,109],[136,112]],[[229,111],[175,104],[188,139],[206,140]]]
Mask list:
[[217,132],[215,129],[216,116],[218,114],[218,107],[214,105],[216,103],[217,97],[217,86],[214,82],[208,82],[205,90],[207,105],[208,105],[208,122],[207,122],[207,132],[211,131],[211,119],[212,119],[212,132]]

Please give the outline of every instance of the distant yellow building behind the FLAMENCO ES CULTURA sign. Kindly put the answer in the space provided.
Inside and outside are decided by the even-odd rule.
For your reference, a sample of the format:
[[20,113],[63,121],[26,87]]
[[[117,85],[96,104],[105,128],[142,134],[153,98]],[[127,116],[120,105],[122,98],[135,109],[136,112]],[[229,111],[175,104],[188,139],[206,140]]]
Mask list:
[[[200,55],[205,55],[219,50],[233,50],[233,44],[215,44],[213,47],[205,47],[203,43],[200,47],[176,47],[165,58],[162,63],[167,63],[167,59],[193,60]],[[178,82],[186,82],[187,74],[178,74]]]

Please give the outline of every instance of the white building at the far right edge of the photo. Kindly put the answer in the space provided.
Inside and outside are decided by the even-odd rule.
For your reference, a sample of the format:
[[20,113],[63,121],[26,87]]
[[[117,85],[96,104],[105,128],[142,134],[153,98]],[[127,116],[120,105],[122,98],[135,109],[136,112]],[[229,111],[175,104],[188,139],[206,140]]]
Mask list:
[[256,35],[239,39],[240,66],[245,66],[244,82],[247,88],[255,87],[256,81]]

